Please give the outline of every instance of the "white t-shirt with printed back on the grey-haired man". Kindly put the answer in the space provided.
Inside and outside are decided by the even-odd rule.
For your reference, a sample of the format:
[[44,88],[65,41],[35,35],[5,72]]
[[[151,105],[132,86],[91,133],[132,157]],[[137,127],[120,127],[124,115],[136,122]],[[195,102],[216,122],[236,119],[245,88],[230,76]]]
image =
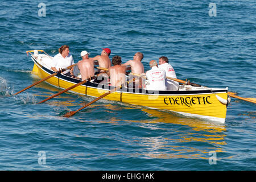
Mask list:
[[166,90],[166,72],[158,67],[152,67],[146,72],[148,90]]

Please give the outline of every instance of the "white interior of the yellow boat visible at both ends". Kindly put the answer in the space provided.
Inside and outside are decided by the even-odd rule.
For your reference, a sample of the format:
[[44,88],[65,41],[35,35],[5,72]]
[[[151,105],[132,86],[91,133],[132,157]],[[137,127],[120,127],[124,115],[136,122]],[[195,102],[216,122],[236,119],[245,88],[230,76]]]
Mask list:
[[[46,54],[38,54],[38,55],[32,55],[35,57],[36,60],[38,60],[38,63],[43,65],[44,67],[51,69],[51,63],[52,63],[52,56],[48,56]],[[179,85],[179,91],[189,91],[189,90],[220,90],[223,88],[208,88],[208,87],[198,87],[198,86],[191,86],[191,85]],[[228,88],[225,88],[228,90]]]

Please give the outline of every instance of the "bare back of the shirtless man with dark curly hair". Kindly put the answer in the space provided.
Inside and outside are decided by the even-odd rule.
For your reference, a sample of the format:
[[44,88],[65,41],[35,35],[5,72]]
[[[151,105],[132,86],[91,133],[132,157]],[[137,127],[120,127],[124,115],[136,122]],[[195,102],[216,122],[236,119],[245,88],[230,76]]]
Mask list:
[[121,65],[114,65],[110,67],[110,83],[112,86],[119,86],[126,80],[126,67]]

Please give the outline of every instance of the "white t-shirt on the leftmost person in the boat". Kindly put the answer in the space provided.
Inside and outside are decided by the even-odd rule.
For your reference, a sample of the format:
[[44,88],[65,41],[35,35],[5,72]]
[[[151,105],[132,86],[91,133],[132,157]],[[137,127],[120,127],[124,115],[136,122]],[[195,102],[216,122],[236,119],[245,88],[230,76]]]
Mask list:
[[[57,70],[67,68],[72,64],[74,64],[72,55],[68,55],[64,58],[63,56],[61,56],[60,53],[58,53],[53,57],[53,60],[52,60],[52,67],[55,67]],[[63,73],[65,74],[68,72],[69,72],[69,69],[67,71],[64,71]]]

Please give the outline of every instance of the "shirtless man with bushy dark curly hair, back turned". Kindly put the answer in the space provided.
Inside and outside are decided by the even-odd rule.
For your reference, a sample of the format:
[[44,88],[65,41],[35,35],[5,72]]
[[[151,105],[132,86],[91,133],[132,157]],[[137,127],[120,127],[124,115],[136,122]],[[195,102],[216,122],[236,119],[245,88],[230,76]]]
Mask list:
[[120,56],[114,56],[112,58],[113,66],[109,69],[110,84],[112,86],[119,86],[126,81],[126,67],[122,65],[122,59]]

